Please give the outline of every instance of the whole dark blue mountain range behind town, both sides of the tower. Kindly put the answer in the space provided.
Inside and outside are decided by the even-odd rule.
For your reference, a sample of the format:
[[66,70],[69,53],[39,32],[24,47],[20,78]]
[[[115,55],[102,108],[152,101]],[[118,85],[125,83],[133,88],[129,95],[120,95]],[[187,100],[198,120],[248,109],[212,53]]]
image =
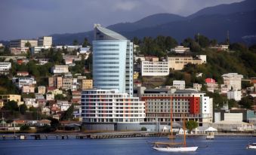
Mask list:
[[[130,39],[135,36],[143,38],[144,36],[170,35],[179,42],[187,37],[193,38],[197,33],[224,41],[229,31],[230,41],[246,41],[253,44],[256,35],[254,6],[256,6],[255,0],[246,0],[230,5],[204,8],[188,17],[175,14],[153,14],[134,23],[117,23],[107,28]],[[91,41],[93,32],[53,35],[54,44],[72,44],[74,39],[82,43],[85,37]]]

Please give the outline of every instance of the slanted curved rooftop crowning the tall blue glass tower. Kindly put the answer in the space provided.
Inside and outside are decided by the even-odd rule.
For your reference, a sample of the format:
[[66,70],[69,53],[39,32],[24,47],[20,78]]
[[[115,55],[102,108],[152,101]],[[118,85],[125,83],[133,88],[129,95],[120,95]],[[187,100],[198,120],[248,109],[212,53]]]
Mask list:
[[95,40],[128,40],[117,32],[110,29],[101,27],[100,25],[94,26],[94,39]]

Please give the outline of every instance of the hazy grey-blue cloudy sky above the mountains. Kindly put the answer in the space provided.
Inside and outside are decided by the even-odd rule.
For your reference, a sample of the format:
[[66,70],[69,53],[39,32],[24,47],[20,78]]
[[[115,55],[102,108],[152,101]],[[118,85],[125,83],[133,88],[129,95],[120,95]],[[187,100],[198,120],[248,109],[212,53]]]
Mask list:
[[1,0],[0,40],[86,32],[152,14],[188,16],[202,8],[242,0]]

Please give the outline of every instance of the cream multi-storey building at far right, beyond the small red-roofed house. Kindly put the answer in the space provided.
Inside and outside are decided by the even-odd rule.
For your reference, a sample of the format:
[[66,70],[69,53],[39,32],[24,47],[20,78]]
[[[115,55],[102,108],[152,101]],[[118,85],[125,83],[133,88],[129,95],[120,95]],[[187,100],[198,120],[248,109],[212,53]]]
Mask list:
[[227,87],[228,90],[241,90],[242,74],[237,73],[227,73],[223,74],[224,85],[222,87]]

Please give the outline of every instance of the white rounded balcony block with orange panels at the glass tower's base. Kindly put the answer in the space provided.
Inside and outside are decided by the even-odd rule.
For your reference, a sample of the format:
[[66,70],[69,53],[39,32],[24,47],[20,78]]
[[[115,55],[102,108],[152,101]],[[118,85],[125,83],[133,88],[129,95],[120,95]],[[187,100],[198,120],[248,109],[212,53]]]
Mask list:
[[84,123],[141,123],[145,118],[145,102],[118,90],[83,90],[81,103]]

